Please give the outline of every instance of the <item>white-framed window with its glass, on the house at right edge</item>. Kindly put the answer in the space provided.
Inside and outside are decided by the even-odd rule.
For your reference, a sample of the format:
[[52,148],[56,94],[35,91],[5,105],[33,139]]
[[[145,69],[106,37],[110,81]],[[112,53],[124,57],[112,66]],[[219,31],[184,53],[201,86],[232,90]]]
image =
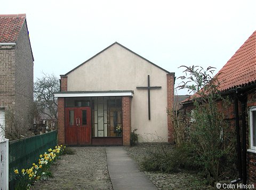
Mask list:
[[250,149],[256,153],[256,106],[250,108]]

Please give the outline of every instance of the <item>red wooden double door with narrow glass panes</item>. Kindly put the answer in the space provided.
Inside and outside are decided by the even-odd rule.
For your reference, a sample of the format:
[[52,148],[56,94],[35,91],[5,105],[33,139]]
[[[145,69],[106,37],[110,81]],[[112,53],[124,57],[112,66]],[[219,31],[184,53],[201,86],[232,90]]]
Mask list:
[[67,145],[91,144],[91,110],[89,107],[66,108],[65,138]]

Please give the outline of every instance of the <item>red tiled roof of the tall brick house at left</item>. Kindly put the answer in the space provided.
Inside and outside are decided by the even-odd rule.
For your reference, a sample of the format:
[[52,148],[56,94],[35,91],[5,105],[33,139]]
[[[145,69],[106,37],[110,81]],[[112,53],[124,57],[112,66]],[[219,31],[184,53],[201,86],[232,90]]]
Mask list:
[[0,14],[0,43],[16,42],[26,14]]

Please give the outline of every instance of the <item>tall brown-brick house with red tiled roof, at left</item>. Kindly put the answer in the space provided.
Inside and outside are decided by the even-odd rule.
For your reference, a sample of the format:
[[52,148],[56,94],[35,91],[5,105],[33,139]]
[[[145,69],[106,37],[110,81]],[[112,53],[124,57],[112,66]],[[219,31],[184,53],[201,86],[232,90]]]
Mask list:
[[34,57],[26,14],[0,15],[0,71],[0,124],[8,129],[7,112],[26,120],[33,105]]

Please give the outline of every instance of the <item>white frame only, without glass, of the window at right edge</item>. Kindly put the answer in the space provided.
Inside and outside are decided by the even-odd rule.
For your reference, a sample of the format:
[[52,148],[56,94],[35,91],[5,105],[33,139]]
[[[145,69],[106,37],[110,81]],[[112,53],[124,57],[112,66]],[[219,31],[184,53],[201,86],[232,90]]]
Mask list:
[[[249,108],[249,122],[250,122],[250,130],[249,130],[249,152],[256,153],[256,143],[253,145],[253,141],[256,141],[256,118],[253,118],[253,112],[256,112],[256,106],[252,106]],[[255,115],[256,117],[256,115]],[[253,122],[254,119],[254,122]],[[254,130],[253,130],[254,128]],[[253,133],[254,132],[254,133]]]

